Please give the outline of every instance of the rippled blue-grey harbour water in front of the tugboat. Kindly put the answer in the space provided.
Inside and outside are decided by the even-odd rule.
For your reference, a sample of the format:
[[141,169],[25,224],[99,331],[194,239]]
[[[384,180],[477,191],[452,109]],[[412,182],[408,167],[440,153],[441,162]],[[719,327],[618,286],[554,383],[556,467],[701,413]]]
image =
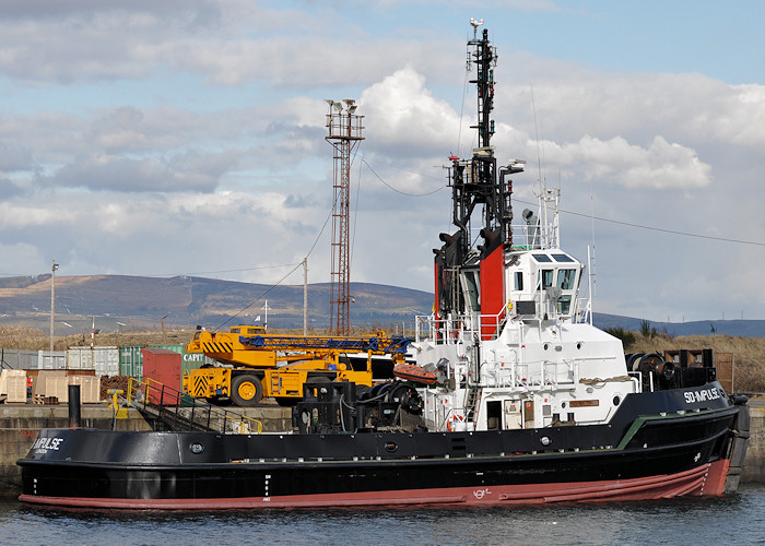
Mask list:
[[719,499],[485,509],[69,511],[0,501],[8,545],[765,544],[765,486]]

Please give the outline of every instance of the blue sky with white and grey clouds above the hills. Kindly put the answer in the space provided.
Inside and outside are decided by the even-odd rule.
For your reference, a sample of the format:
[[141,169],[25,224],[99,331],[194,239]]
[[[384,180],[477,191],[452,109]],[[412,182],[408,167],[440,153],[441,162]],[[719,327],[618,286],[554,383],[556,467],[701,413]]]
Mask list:
[[351,281],[432,292],[471,17],[516,217],[560,187],[595,310],[765,319],[757,0],[0,0],[0,276],[329,282],[325,99],[354,98]]

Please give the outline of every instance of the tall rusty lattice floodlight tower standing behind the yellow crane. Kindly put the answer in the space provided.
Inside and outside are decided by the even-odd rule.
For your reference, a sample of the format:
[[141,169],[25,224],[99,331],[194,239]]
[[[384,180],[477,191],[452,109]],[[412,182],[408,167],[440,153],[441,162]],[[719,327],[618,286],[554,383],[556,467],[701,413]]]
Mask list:
[[351,197],[351,152],[364,140],[362,120],[356,102],[326,99],[329,105],[327,142],[334,151],[334,202],[332,204],[332,274],[330,330],[339,335],[349,334],[351,294],[349,288],[351,264],[349,257],[349,203]]

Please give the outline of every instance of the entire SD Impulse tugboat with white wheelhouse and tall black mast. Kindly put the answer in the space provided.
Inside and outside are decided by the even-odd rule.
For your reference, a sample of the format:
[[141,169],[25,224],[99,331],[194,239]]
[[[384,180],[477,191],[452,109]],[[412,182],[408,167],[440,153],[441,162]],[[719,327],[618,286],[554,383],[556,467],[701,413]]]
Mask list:
[[722,390],[711,352],[625,356],[593,327],[585,266],[560,248],[556,191],[513,224],[509,176],[523,162],[498,165],[490,143],[496,51],[471,23],[478,147],[449,158],[456,229],[434,250],[434,312],[417,317],[399,379],[307,383],[295,432],[44,430],[19,461],[20,500],[511,506],[737,488],[749,407]]

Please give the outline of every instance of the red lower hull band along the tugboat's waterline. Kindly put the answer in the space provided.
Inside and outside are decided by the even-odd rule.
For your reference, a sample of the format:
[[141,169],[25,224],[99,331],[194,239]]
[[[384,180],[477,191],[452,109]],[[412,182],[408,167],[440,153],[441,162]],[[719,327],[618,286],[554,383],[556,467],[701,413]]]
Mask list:
[[682,496],[719,496],[725,489],[730,461],[720,460],[670,475],[643,478],[532,484],[522,486],[475,486],[446,489],[295,495],[220,499],[107,499],[40,497],[22,495],[19,500],[73,508],[119,508],[162,510],[214,510],[262,508],[322,508],[395,505],[541,505],[549,502],[595,502],[663,499]]

